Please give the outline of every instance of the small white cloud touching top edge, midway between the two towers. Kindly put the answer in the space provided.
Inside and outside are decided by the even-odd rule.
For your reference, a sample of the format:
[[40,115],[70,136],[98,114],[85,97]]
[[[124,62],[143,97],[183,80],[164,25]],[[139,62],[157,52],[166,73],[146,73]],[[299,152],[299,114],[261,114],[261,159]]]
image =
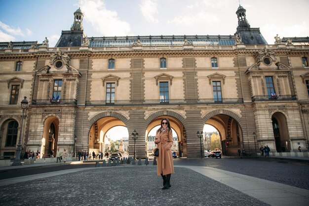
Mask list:
[[156,0],[143,0],[140,10],[148,22],[158,23],[154,15],[158,13],[158,4]]

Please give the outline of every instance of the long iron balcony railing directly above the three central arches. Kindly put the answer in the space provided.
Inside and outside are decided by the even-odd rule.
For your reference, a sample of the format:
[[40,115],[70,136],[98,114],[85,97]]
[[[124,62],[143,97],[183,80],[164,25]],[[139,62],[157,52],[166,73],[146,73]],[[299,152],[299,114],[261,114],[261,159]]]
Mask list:
[[145,99],[145,100],[94,100],[86,101],[86,106],[123,106],[123,105],[188,105],[188,104],[235,104],[243,103],[242,98],[221,99]]

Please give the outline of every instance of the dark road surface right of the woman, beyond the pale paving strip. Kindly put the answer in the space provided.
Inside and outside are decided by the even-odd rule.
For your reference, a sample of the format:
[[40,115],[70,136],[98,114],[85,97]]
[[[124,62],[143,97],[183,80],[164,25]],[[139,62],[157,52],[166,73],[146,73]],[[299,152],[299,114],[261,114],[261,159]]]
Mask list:
[[195,159],[174,160],[174,165],[209,166],[309,190],[309,165],[278,159]]

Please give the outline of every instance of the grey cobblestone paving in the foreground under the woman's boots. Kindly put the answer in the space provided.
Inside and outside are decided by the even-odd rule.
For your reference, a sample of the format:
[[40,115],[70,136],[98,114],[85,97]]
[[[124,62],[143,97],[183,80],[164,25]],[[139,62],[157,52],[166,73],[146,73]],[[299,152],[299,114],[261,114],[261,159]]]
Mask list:
[[2,206],[268,206],[188,168],[161,190],[155,166],[99,167],[3,187]]

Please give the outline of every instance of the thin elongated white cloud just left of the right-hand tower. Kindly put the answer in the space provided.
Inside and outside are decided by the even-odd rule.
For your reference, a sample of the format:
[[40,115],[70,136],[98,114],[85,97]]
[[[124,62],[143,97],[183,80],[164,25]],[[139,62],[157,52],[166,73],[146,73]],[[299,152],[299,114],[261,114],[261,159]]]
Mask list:
[[193,15],[176,16],[173,20],[169,20],[168,23],[175,23],[180,25],[196,25],[200,23],[215,23],[218,22],[218,17],[211,15],[207,12],[198,12]]

